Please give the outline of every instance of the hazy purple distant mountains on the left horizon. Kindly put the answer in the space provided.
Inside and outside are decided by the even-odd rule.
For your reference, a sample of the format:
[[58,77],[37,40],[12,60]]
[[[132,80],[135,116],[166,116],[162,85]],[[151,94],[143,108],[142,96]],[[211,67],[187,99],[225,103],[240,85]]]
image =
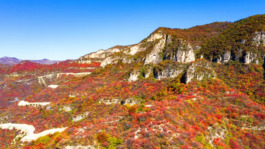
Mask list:
[[[5,64],[5,65],[15,65],[18,64],[19,62],[22,62],[23,60],[19,60],[17,58],[14,57],[2,57],[0,58],[0,64]],[[56,62],[59,62],[59,60],[48,60],[48,59],[42,59],[42,60],[29,60],[35,63],[39,63],[39,64],[54,64]]]

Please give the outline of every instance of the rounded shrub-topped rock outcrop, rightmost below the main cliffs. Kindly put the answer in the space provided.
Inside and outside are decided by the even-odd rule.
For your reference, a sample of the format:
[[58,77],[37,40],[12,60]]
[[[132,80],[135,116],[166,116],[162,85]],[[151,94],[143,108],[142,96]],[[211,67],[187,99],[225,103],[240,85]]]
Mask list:
[[187,71],[185,72],[185,84],[188,84],[190,81],[202,80],[203,78],[216,78],[216,73],[212,69],[210,62],[208,61],[197,61],[188,66]]

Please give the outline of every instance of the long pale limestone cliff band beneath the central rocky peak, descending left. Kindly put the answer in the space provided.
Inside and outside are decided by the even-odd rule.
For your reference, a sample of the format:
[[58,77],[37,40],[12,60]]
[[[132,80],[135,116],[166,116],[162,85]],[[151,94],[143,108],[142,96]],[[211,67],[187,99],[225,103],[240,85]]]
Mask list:
[[[172,42],[177,42],[177,50],[173,51],[174,56],[166,58],[163,52],[167,52],[166,46],[169,46]],[[172,47],[175,49],[175,47]],[[137,52],[145,52],[146,55],[133,57]],[[119,53],[119,54],[116,54]],[[122,54],[123,53],[123,54]],[[140,58],[139,58],[140,57]],[[118,61],[123,63],[131,63],[133,61],[144,61],[144,64],[158,64],[162,60],[175,60],[177,62],[188,63],[195,60],[194,52],[190,43],[183,41],[182,39],[173,39],[171,35],[165,35],[162,31],[156,31],[149,35],[146,39],[142,40],[138,44],[129,46],[115,46],[107,50],[99,50],[92,52],[85,56],[81,56],[76,60],[79,63],[91,63],[92,61],[100,62],[100,66],[105,67],[108,64],[115,64]],[[149,76],[148,74],[146,74]]]

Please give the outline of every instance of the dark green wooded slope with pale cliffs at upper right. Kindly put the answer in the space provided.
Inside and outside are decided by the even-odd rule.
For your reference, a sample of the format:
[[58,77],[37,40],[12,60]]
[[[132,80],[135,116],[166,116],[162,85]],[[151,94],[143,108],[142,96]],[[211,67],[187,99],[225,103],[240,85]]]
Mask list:
[[265,15],[254,15],[228,25],[228,29],[202,46],[198,56],[221,63],[263,63],[265,50]]

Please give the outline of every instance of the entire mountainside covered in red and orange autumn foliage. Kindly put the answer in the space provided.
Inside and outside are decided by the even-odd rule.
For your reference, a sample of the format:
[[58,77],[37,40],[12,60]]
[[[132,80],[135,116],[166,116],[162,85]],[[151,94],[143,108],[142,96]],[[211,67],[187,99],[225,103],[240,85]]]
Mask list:
[[[265,15],[0,67],[0,148],[265,148]],[[35,137],[34,137],[35,136]]]

